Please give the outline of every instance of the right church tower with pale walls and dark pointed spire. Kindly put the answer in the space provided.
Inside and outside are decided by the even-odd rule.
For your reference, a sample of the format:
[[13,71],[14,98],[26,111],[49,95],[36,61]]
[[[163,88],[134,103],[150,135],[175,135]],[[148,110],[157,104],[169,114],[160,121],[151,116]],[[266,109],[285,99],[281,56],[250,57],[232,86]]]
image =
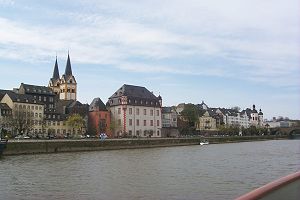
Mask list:
[[65,74],[60,79],[60,94],[59,98],[62,100],[75,100],[77,99],[77,82],[72,74],[72,67],[70,56],[68,53],[68,60],[66,65]]

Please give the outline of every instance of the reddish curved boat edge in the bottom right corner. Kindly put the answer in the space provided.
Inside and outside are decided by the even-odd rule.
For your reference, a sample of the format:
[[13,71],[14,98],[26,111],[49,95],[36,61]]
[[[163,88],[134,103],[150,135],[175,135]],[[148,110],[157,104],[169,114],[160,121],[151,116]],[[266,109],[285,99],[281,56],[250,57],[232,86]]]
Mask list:
[[236,200],[299,200],[300,198],[300,171],[268,183],[253,190]]

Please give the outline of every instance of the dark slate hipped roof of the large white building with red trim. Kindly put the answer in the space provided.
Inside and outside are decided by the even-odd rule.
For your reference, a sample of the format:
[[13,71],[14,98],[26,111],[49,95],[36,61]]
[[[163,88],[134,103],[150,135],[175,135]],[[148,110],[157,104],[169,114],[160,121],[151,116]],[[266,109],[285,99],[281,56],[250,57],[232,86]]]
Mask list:
[[108,101],[109,106],[116,106],[121,104],[120,97],[127,97],[127,105],[139,105],[147,107],[160,107],[159,100],[161,97],[156,97],[152,92],[145,87],[126,85],[124,84],[117,90]]

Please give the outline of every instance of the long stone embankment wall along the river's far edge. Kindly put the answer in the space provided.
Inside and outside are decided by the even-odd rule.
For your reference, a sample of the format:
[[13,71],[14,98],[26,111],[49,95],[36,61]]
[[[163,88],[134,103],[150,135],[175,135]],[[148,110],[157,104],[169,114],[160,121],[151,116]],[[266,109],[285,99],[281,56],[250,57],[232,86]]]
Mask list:
[[195,137],[195,138],[151,138],[151,139],[109,139],[109,140],[10,140],[3,155],[60,153],[78,151],[99,151],[199,145],[208,140],[210,144],[250,142],[260,140],[287,139],[286,136],[255,137]]

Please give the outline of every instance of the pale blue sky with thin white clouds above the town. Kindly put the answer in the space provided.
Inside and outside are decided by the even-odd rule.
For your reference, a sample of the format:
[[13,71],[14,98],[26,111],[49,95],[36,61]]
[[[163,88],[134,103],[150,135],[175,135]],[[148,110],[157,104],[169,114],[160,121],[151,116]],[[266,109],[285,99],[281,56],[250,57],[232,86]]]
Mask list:
[[1,89],[47,86],[68,51],[82,103],[132,84],[300,119],[299,0],[0,0]]

